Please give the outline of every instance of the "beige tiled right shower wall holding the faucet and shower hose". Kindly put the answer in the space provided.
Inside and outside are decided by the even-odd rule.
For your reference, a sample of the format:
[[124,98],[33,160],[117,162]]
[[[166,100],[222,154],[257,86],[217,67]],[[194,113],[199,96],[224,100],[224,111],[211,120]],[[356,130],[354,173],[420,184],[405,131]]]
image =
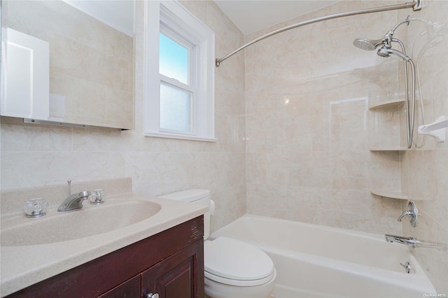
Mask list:
[[[400,38],[408,45],[418,69],[416,126],[433,122],[441,115],[448,117],[448,2],[425,1],[418,13],[411,13],[408,27],[400,29]],[[400,12],[398,20],[407,13]],[[404,78],[400,78],[404,80]],[[421,109],[423,101],[423,111]],[[448,136],[448,129],[445,129]],[[412,228],[402,223],[403,234],[421,241],[448,244],[448,143],[437,143],[430,136],[416,135],[416,146],[402,154],[402,180],[419,208],[419,223]],[[448,252],[431,248],[414,248],[414,255],[426,269],[437,292],[448,294]]]

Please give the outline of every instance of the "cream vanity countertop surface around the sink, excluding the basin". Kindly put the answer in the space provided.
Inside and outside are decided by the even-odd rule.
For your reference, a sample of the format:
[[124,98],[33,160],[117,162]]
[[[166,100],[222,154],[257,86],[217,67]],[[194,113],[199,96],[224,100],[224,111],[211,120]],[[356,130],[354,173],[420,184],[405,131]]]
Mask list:
[[[146,220],[111,232],[33,246],[1,246],[1,297],[146,239],[208,211],[205,205],[160,199],[144,194],[119,194],[108,197],[104,204],[107,204],[109,199],[153,201],[160,204],[162,208]],[[85,206],[87,207],[86,203]],[[55,209],[48,210],[48,213],[51,212],[56,211]],[[82,211],[70,213],[76,212]],[[73,224],[79,225],[79,222]],[[89,229],[87,226],[83,227],[82,224],[79,228]]]

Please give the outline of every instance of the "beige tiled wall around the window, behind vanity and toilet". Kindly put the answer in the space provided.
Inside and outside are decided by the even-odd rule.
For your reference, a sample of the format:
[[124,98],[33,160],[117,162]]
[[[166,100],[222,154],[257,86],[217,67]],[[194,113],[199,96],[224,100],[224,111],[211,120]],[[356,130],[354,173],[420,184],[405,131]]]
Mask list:
[[[215,32],[217,56],[244,42],[213,1],[182,3]],[[136,129],[46,127],[2,118],[1,190],[125,176],[137,193],[204,188],[216,201],[217,229],[246,213],[244,55],[216,69],[216,143],[144,137],[143,13],[143,1],[137,1]]]

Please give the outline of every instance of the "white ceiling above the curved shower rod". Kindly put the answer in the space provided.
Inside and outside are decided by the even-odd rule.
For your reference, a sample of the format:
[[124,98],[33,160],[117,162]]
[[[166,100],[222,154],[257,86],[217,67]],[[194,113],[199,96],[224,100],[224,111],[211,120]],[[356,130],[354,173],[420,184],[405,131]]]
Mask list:
[[338,2],[325,0],[214,1],[245,35]]

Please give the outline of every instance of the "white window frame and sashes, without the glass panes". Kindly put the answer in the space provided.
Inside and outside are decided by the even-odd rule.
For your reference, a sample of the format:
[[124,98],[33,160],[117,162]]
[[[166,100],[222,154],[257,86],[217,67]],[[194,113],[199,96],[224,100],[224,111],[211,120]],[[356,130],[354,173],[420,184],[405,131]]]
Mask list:
[[[190,61],[192,63],[190,79],[194,83],[193,86],[188,85],[189,89],[186,89],[187,85],[178,80],[159,73],[160,29],[162,33],[172,31],[175,36],[185,38],[185,45],[194,45]],[[178,1],[145,1],[145,136],[216,141],[214,135],[214,37],[214,32]],[[178,41],[177,38],[176,41]],[[185,90],[193,88],[191,132],[160,129],[161,81]]]

